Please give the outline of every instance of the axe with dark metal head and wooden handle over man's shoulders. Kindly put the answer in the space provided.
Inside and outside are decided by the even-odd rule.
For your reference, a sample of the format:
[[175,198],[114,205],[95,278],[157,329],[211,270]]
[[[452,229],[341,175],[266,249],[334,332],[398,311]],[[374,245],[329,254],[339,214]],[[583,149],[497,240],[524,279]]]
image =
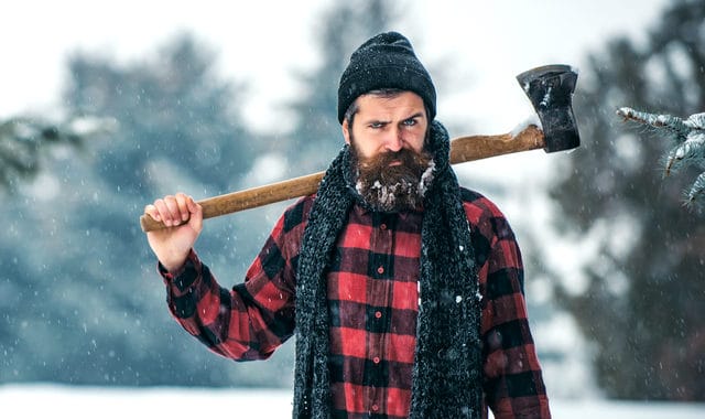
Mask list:
[[[521,73],[517,80],[529,96],[541,127],[529,125],[518,133],[456,138],[451,141],[452,164],[541,148],[545,152],[570,150],[581,144],[572,108],[577,73],[568,65],[554,64]],[[231,214],[313,194],[318,190],[324,172],[313,173],[208,197],[198,204],[203,207],[204,219]],[[147,214],[140,217],[140,225],[143,232],[165,227]]]

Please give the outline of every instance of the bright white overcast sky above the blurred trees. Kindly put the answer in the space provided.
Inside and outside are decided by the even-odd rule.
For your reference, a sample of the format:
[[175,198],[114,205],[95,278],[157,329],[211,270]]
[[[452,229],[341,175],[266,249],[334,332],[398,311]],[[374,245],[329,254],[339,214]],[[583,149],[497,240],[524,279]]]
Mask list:
[[[87,51],[133,60],[191,30],[220,54],[225,77],[251,82],[246,117],[272,127],[291,72],[315,65],[319,11],[333,0],[7,2],[0,13],[0,119],[57,109],[66,56]],[[514,76],[550,63],[582,64],[615,34],[643,35],[666,0],[408,1],[406,33],[426,63],[443,63],[440,119],[510,130],[531,114]],[[360,40],[362,42],[364,40]],[[579,83],[579,82],[578,82]]]

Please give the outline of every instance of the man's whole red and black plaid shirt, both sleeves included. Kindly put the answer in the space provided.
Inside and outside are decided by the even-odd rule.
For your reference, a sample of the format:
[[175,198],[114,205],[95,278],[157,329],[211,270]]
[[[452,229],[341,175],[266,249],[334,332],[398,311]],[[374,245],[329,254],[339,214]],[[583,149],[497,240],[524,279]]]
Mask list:
[[[462,195],[480,266],[485,404],[496,418],[549,418],[514,235],[489,200],[467,190]],[[178,323],[223,356],[269,357],[293,335],[295,272],[312,204],[304,197],[284,213],[245,283],[232,290],[221,288],[194,251],[176,276],[160,266]],[[350,211],[328,275],[335,418],[409,413],[422,217]]]

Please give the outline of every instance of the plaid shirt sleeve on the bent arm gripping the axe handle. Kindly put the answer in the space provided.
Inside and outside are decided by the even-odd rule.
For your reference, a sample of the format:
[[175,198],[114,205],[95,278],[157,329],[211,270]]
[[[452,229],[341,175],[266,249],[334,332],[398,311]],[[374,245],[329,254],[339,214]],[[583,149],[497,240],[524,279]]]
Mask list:
[[[265,359],[292,336],[301,201],[276,222],[243,283],[221,287],[192,250],[171,275],[159,265],[173,318],[210,351],[235,361]],[[292,215],[293,214],[293,215]]]

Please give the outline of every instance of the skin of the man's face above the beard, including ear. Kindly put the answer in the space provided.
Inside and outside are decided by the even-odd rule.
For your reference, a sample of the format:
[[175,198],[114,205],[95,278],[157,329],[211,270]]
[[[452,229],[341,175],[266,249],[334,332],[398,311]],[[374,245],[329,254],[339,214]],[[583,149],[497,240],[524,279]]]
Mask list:
[[423,150],[429,120],[423,99],[411,92],[393,97],[362,95],[357,98],[358,111],[352,127],[343,121],[345,142],[355,139],[361,157],[373,158],[384,152],[409,149]]

